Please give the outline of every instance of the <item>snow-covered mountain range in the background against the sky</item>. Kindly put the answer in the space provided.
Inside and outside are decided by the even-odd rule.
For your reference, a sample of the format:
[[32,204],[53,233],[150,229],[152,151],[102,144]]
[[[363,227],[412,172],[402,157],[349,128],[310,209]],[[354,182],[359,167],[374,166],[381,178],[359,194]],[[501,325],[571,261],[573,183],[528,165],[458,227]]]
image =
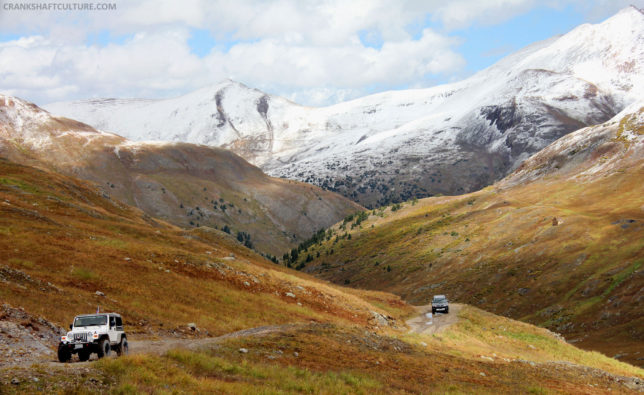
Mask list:
[[552,141],[644,96],[644,14],[533,44],[472,77],[324,108],[225,81],[166,100],[46,106],[134,140],[229,148],[267,173],[368,207],[491,184]]

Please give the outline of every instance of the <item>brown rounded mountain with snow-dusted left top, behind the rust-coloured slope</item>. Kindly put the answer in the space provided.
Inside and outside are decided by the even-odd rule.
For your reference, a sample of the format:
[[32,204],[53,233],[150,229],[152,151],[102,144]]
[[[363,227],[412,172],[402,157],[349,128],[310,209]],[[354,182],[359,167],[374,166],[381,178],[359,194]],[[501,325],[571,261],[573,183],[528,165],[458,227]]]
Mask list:
[[224,229],[273,255],[360,208],[318,187],[268,177],[227,150],[133,142],[2,95],[0,156],[94,181],[152,217]]

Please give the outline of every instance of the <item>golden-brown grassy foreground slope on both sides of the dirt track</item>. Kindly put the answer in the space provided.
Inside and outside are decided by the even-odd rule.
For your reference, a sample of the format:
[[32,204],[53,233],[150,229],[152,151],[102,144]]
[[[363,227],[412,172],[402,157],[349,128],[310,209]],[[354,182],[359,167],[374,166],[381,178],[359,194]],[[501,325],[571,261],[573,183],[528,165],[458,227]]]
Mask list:
[[[468,306],[448,331],[409,334],[403,320],[414,311],[397,296],[275,265],[223,232],[176,228],[84,181],[6,160],[0,174],[3,308],[65,326],[100,305],[123,314],[132,342],[183,338],[179,345],[279,325],[198,349],[9,364],[0,368],[3,393],[628,393],[644,379],[640,369]],[[33,332],[33,322],[20,325]]]

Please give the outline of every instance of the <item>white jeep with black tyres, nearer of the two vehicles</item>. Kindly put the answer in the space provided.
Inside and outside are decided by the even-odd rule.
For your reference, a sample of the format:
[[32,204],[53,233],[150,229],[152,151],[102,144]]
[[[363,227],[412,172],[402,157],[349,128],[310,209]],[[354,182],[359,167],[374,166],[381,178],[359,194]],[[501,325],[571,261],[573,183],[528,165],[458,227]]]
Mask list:
[[92,353],[103,358],[109,355],[112,349],[119,356],[128,352],[123,321],[116,313],[76,316],[69,329],[65,336],[61,336],[58,344],[60,362],[69,362],[73,354],[78,354],[81,361],[87,361]]

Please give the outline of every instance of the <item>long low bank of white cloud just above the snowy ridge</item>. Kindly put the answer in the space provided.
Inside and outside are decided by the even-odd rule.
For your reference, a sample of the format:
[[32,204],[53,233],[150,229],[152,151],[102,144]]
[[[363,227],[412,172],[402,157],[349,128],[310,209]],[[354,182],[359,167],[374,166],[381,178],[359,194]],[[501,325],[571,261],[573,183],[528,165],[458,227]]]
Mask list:
[[181,29],[140,33],[106,47],[22,38],[0,45],[0,83],[45,103],[69,97],[168,96],[230,77],[291,97],[294,91],[308,91],[298,98],[321,104],[340,96],[320,94],[325,90],[359,95],[365,86],[406,84],[464,63],[451,49],[452,39],[430,30],[418,40],[386,42],[379,50],[362,46],[357,37],[324,47],[264,39],[203,59],[190,52],[187,38]]

